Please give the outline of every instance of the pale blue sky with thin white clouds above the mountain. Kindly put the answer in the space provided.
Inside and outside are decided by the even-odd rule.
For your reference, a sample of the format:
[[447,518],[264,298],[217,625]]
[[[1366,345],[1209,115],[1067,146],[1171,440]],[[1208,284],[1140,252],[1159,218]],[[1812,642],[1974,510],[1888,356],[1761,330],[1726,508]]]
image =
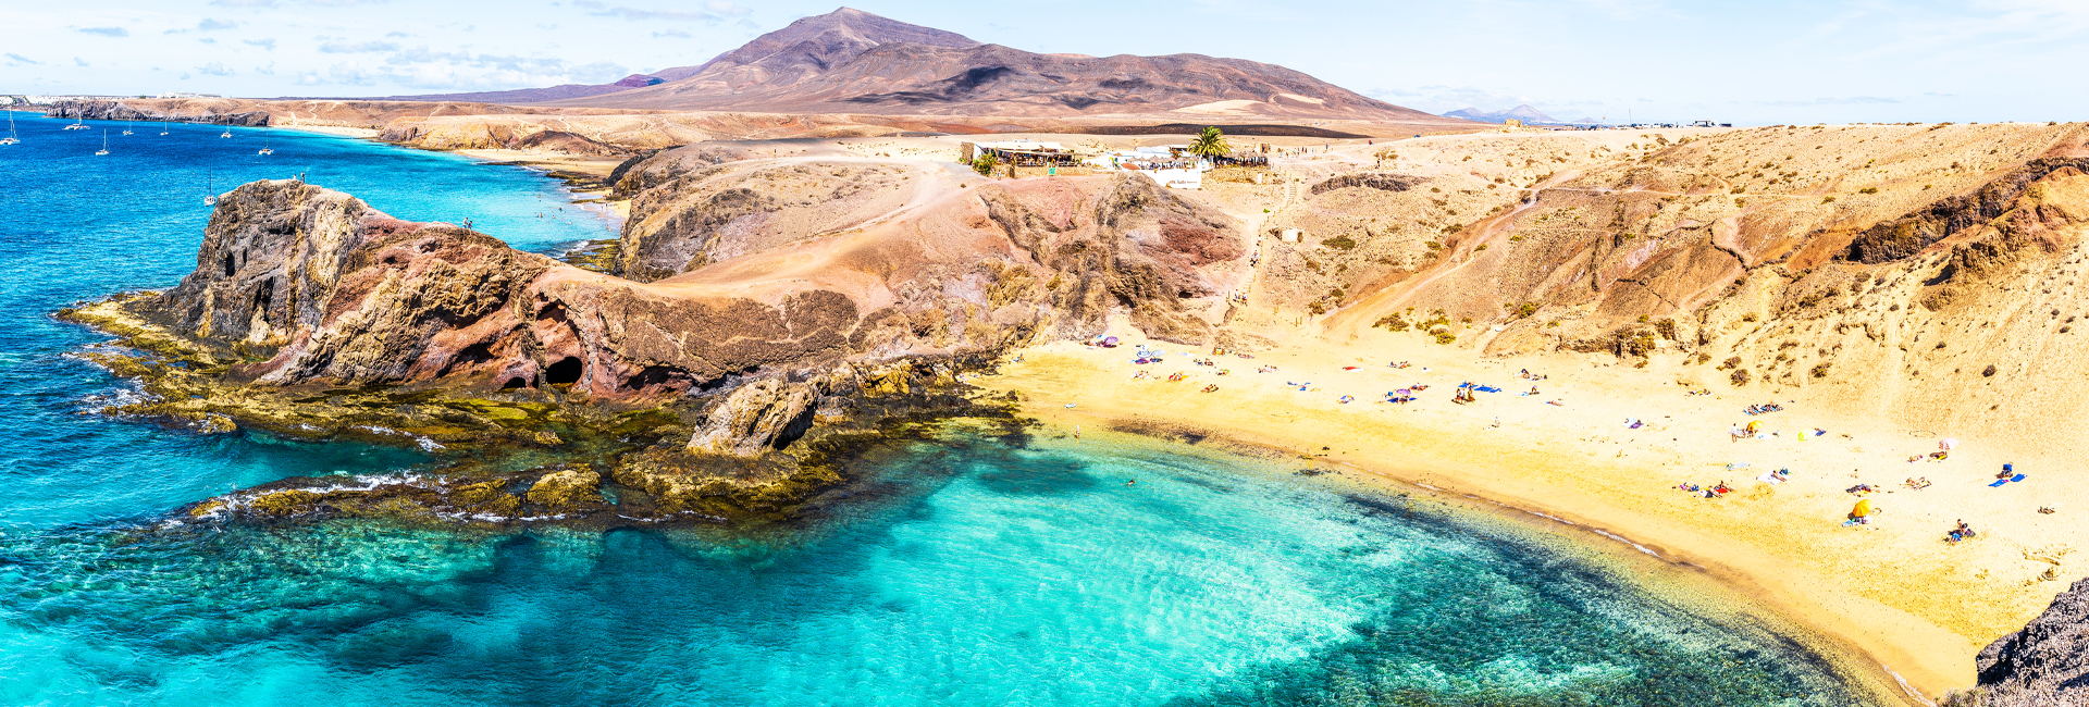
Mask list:
[[[700,65],[825,2],[10,2],[0,94],[399,96]],[[1554,119],[2079,121],[2089,0],[850,0],[1032,52],[1251,58]]]

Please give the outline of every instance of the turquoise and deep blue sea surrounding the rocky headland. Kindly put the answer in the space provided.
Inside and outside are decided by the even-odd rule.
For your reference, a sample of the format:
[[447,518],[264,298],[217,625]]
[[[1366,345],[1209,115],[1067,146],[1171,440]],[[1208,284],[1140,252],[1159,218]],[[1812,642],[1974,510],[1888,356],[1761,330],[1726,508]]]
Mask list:
[[1797,642],[1558,540],[1139,438],[953,430],[758,530],[182,523],[178,505],[232,488],[428,463],[88,415],[125,386],[69,357],[102,336],[48,315],[175,284],[213,179],[305,173],[529,250],[610,231],[541,175],[453,154],[17,123],[0,705],[1857,703]]

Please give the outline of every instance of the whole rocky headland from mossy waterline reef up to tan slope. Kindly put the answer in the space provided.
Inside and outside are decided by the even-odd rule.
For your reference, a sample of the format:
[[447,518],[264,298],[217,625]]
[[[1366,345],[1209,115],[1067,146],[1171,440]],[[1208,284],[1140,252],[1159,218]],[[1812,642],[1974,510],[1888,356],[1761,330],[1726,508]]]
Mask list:
[[[140,350],[88,355],[144,382],[148,400],[115,413],[472,453],[432,486],[311,498],[261,488],[198,513],[723,517],[840,482],[834,459],[850,440],[994,415],[959,380],[1007,346],[1093,336],[1113,311],[1210,340],[1189,300],[1212,294],[1243,250],[1230,219],[1151,179],[999,186],[965,173],[953,188],[921,165],[771,163],[712,179],[819,188],[771,181],[775,202],[706,221],[710,196],[731,188],[696,190],[673,167],[683,156],[656,159],[633,169],[654,194],[637,219],[648,225],[627,238],[633,250],[652,238],[704,254],[671,277],[581,271],[311,184],[255,181],[221,196],[178,286],[65,317]],[[917,190],[867,211],[836,194],[879,173]],[[894,186],[873,181],[856,188]],[[773,227],[731,225],[746,215]],[[545,488],[524,490],[512,467],[541,459],[531,448],[606,465],[631,501],[568,503],[579,480],[604,473],[564,467],[524,469]]]

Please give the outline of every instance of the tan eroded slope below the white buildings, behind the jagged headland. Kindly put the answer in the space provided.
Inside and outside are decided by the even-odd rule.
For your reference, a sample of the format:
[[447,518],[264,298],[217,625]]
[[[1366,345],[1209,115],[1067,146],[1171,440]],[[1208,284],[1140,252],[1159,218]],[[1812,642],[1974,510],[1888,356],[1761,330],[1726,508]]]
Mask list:
[[694,146],[623,169],[616,188],[633,196],[625,277],[729,284],[815,254],[817,269],[794,273],[863,292],[867,321],[936,346],[1082,338],[1113,311],[1149,336],[1207,342],[1214,323],[1193,311],[1249,277],[1239,221],[1143,175],[996,181]]

